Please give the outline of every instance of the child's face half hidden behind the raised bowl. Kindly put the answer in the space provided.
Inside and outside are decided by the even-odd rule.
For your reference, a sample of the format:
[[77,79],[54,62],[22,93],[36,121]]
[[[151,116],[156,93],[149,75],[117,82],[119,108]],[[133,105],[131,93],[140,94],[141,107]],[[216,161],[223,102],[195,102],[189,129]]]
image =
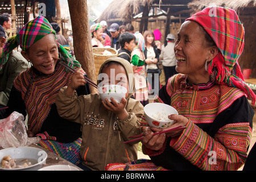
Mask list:
[[105,73],[104,80],[100,82],[103,85],[121,85],[129,91],[129,81],[127,79],[125,68],[122,65],[110,64],[109,67],[103,68],[101,73]]

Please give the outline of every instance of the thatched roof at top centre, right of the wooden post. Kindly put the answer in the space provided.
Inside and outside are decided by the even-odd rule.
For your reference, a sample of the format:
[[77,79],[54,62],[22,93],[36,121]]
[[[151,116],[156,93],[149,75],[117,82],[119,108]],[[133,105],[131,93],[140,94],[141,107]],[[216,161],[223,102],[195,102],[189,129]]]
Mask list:
[[131,19],[133,14],[139,13],[141,6],[149,5],[154,0],[114,0],[100,15],[97,22],[106,19]]

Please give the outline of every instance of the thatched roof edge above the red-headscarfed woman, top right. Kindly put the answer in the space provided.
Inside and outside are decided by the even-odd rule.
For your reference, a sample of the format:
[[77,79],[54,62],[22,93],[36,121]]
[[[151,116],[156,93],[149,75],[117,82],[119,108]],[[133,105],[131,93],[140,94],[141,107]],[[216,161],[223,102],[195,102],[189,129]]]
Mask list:
[[256,0],[194,0],[188,3],[188,7],[192,9],[203,9],[204,7],[213,5],[238,10],[243,7],[256,6]]

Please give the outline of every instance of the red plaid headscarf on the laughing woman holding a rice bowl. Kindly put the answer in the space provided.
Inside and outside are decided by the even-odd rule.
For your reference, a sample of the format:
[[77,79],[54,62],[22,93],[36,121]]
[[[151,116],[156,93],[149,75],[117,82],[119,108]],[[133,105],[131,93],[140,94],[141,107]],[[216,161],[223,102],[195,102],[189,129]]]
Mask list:
[[245,44],[245,30],[236,11],[227,7],[210,6],[186,20],[193,20],[203,26],[219,49],[217,56],[208,65],[209,75],[217,84],[241,89],[255,105],[256,96],[245,84],[238,64]]

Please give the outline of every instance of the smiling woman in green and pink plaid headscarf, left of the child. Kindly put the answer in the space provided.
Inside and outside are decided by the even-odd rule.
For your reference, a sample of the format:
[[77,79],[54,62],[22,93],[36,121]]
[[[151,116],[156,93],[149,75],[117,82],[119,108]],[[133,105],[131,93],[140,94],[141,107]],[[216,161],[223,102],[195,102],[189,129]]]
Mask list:
[[[80,162],[81,126],[61,118],[55,102],[60,88],[68,85],[73,75],[60,63],[64,62],[85,74],[84,70],[57,43],[55,31],[43,16],[25,24],[16,36],[7,41],[2,55],[6,61],[9,52],[18,46],[32,67],[16,77],[7,104],[7,115],[13,111],[18,111],[24,117],[28,115],[28,137],[39,136],[42,147],[73,163]],[[88,84],[77,91],[78,94],[90,92]]]

